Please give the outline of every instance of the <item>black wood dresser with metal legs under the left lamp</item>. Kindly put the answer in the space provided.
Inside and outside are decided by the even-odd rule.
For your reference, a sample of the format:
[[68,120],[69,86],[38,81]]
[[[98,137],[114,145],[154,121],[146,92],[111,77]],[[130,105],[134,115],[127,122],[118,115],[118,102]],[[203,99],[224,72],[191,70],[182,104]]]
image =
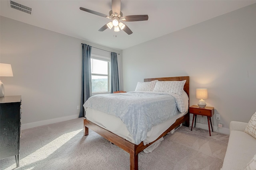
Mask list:
[[21,96],[0,97],[0,160],[15,156],[20,164]]

